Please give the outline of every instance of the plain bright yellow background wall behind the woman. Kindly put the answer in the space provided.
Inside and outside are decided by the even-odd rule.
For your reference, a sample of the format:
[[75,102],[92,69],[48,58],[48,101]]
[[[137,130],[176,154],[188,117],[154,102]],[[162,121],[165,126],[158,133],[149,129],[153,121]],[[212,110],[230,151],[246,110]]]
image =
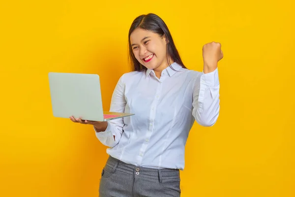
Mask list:
[[98,73],[104,109],[129,71],[127,35],[164,19],[185,65],[222,43],[220,117],[194,125],[182,197],[295,196],[294,0],[14,0],[0,3],[0,196],[97,197],[106,147],[54,118],[48,72]]

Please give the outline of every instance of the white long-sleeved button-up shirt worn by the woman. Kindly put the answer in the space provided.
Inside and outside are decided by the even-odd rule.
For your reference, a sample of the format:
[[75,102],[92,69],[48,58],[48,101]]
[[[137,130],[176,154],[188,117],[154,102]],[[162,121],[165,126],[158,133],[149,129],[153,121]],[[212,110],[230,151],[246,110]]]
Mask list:
[[[123,74],[110,111],[135,115],[108,121],[96,132],[107,153],[127,164],[151,168],[184,168],[184,146],[196,120],[212,126],[219,115],[218,69],[203,73],[177,63],[162,71]],[[115,140],[113,135],[115,135]]]

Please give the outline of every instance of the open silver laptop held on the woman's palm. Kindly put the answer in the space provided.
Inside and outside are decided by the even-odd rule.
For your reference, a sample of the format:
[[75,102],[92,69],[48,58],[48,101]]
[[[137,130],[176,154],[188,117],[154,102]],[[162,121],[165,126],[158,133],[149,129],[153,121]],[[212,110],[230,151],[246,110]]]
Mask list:
[[103,111],[97,74],[49,72],[48,77],[55,117],[108,121],[134,115]]

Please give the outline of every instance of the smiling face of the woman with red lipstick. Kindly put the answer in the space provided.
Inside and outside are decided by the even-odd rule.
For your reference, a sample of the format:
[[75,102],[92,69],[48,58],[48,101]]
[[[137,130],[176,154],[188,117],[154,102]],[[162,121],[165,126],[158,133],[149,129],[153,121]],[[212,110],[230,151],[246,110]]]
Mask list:
[[130,43],[135,58],[143,66],[155,70],[168,66],[165,36],[137,28],[130,35]]

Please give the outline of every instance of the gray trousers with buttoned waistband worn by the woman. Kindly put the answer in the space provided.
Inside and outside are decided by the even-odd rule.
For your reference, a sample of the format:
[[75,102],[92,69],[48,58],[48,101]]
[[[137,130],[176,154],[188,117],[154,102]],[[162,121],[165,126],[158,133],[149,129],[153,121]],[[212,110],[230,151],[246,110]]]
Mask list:
[[138,167],[109,157],[99,197],[180,197],[179,170]]

